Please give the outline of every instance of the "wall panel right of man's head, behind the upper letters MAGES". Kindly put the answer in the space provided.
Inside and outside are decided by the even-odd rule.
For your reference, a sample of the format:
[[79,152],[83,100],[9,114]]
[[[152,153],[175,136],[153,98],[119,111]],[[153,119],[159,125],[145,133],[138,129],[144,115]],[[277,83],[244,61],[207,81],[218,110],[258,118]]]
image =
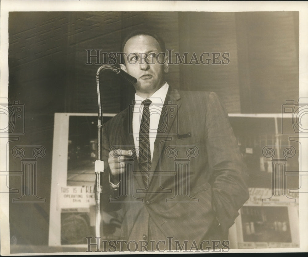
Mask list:
[[[180,66],[181,89],[215,91],[229,112],[240,112],[234,13],[179,13],[179,28],[180,55],[188,52],[188,63],[193,53],[197,58],[202,53],[210,54],[203,56],[204,63],[210,59],[209,64]],[[227,63],[222,59],[225,52],[230,54],[229,64],[213,64]],[[220,53],[221,56],[213,60],[211,53]]]

